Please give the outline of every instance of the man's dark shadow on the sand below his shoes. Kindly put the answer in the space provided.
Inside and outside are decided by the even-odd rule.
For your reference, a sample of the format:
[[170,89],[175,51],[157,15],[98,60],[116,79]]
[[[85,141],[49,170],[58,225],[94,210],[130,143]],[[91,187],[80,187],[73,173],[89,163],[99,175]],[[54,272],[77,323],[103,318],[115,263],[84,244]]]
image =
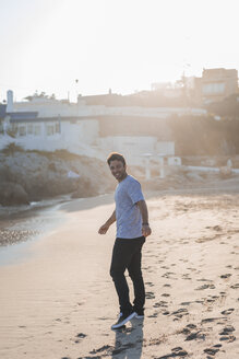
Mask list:
[[116,332],[115,349],[111,358],[140,359],[143,347],[143,320],[132,319],[131,327],[123,327]]

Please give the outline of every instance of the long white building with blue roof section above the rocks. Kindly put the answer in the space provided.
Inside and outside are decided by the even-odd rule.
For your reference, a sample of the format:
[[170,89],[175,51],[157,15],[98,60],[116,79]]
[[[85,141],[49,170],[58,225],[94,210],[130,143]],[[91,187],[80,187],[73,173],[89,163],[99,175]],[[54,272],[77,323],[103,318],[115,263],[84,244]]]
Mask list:
[[[152,124],[159,124],[171,114],[189,113],[194,114],[194,109],[88,106],[81,99],[77,103],[69,103],[46,96],[33,96],[31,101],[14,103],[13,93],[9,91],[7,116],[0,135],[0,149],[14,142],[26,150],[65,149],[101,160],[105,160],[109,152],[119,151],[128,158],[129,164],[141,164],[142,154],[145,152],[153,155],[175,154],[174,141],[165,136],[164,126],[159,138],[154,126],[153,130],[148,131],[148,124],[152,121]],[[205,112],[199,109],[199,113]],[[105,118],[111,121],[111,127],[116,125],[116,130],[107,135],[101,130]],[[121,125],[122,119],[124,125]],[[134,127],[135,121],[141,123],[141,131],[135,129],[134,132],[131,131],[131,119],[132,123],[134,121]]]

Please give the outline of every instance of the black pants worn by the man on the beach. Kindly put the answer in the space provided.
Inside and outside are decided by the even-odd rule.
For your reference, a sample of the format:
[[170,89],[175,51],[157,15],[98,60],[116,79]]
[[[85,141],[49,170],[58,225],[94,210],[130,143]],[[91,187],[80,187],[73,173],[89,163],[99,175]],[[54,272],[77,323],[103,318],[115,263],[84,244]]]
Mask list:
[[[145,289],[141,271],[141,250],[144,242],[144,236],[129,240],[116,239],[113,245],[110,276],[119,297],[120,312],[123,314],[129,314],[132,310],[138,314],[143,314],[144,311]],[[133,305],[130,303],[129,287],[124,277],[126,269],[133,281]]]

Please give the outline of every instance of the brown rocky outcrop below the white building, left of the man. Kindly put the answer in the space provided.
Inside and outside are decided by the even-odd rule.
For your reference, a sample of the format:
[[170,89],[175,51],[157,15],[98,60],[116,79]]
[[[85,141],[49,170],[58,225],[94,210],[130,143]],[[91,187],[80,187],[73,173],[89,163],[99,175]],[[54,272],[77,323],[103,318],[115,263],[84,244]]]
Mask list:
[[67,151],[0,152],[0,205],[27,204],[64,194],[91,197],[110,190],[106,163]]

